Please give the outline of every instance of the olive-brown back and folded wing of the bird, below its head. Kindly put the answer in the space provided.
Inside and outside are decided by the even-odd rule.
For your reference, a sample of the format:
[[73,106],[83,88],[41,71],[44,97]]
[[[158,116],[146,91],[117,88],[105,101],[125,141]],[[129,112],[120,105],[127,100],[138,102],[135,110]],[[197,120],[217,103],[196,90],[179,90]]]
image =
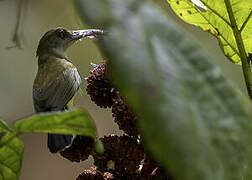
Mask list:
[[38,66],[33,85],[36,112],[63,110],[77,92],[80,83],[79,73],[71,62],[48,57]]

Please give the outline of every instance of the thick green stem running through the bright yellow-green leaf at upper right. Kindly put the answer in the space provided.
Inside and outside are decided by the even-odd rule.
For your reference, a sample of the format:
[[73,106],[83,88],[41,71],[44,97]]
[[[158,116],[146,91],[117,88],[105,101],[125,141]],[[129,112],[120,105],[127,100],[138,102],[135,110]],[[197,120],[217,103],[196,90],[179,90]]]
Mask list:
[[251,69],[250,69],[247,53],[245,51],[244,43],[241,37],[241,32],[239,31],[237,27],[237,23],[234,17],[230,0],[225,0],[225,4],[226,4],[227,12],[229,15],[229,19],[231,22],[231,27],[232,27],[233,34],[235,37],[235,41],[236,41],[236,44],[240,53],[240,58],[242,62],[242,71],[243,71],[243,76],[244,76],[245,83],[247,86],[248,95],[250,99],[252,99],[252,74],[251,74]]

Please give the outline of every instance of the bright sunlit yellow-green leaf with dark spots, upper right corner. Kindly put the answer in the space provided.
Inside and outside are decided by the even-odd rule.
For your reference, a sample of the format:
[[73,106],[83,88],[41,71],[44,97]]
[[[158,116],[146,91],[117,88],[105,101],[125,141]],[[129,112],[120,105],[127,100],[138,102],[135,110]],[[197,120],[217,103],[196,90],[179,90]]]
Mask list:
[[[224,0],[167,0],[174,12],[185,22],[200,26],[214,35],[225,56],[241,64]],[[194,3],[193,3],[194,2]],[[247,53],[252,52],[252,1],[230,0],[237,26],[241,30]]]

